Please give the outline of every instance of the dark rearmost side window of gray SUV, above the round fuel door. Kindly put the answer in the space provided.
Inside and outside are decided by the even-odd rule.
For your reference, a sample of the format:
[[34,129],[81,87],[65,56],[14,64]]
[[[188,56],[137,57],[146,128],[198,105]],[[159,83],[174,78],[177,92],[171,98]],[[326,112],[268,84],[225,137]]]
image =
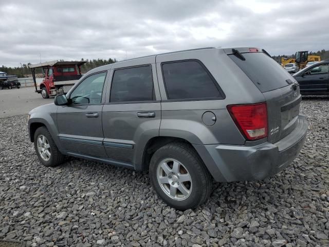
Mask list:
[[168,99],[223,99],[217,82],[199,61],[162,63]]

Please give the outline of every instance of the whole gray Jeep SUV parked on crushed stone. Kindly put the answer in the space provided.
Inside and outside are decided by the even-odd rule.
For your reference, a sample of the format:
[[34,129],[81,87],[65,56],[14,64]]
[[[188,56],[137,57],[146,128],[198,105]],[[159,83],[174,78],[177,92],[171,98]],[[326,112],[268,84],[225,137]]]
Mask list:
[[28,129],[45,166],[64,155],[149,170],[159,197],[195,208],[212,181],[262,180],[303,146],[296,80],[258,48],[203,48],[90,70]]

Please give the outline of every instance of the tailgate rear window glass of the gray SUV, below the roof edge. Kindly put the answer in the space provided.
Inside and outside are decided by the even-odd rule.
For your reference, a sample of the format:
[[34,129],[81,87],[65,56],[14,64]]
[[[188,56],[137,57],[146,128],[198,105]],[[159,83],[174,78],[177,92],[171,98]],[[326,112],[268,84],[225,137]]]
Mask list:
[[250,52],[242,55],[245,57],[245,61],[234,55],[229,55],[229,57],[262,93],[288,85],[286,82],[286,79],[289,79],[287,72],[263,52]]

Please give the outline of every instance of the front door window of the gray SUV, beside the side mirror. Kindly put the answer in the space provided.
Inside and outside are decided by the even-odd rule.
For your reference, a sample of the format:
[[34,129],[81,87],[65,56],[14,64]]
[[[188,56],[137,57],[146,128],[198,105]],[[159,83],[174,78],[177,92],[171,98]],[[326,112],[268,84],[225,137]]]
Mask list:
[[86,77],[71,93],[72,104],[100,104],[106,72]]

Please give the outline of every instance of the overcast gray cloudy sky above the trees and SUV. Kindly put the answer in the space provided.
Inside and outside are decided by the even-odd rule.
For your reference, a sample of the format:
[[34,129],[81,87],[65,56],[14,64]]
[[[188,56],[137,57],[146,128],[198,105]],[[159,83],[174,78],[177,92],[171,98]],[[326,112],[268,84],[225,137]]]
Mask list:
[[0,0],[0,66],[207,46],[329,49],[328,0]]

